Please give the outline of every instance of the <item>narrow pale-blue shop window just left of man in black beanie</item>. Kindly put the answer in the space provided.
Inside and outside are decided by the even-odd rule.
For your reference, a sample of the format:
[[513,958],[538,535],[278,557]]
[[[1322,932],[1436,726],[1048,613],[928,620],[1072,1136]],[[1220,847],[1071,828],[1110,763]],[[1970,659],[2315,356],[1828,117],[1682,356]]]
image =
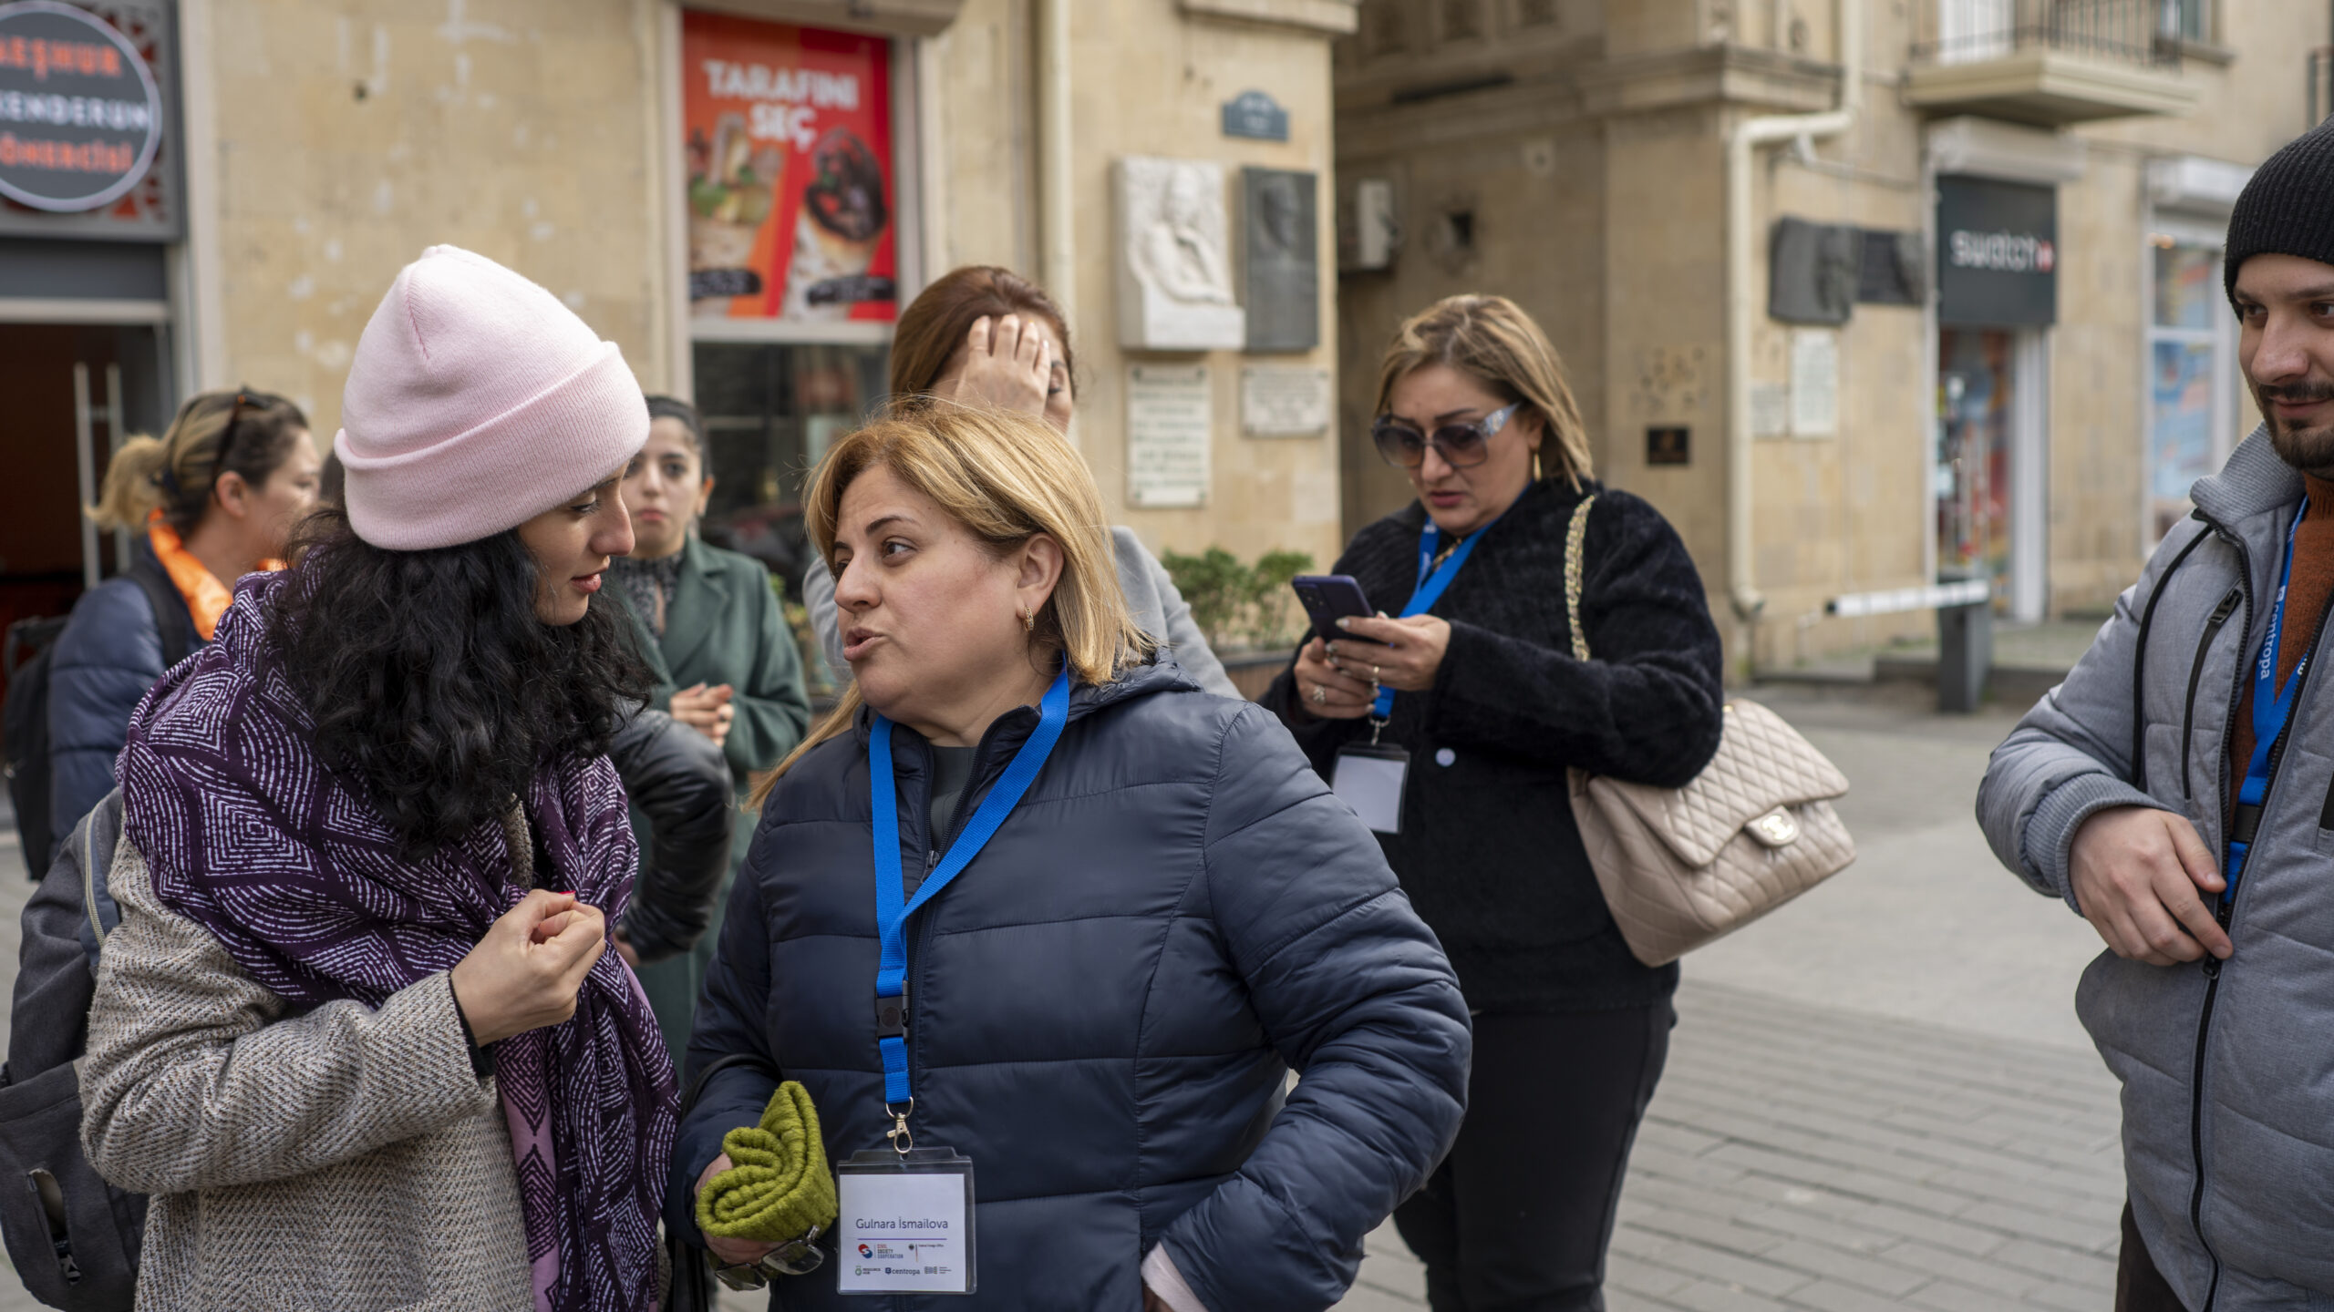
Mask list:
[[2147,320],[2147,544],[2189,514],[2189,486],[2229,455],[2229,303],[2220,245],[2150,238]]

